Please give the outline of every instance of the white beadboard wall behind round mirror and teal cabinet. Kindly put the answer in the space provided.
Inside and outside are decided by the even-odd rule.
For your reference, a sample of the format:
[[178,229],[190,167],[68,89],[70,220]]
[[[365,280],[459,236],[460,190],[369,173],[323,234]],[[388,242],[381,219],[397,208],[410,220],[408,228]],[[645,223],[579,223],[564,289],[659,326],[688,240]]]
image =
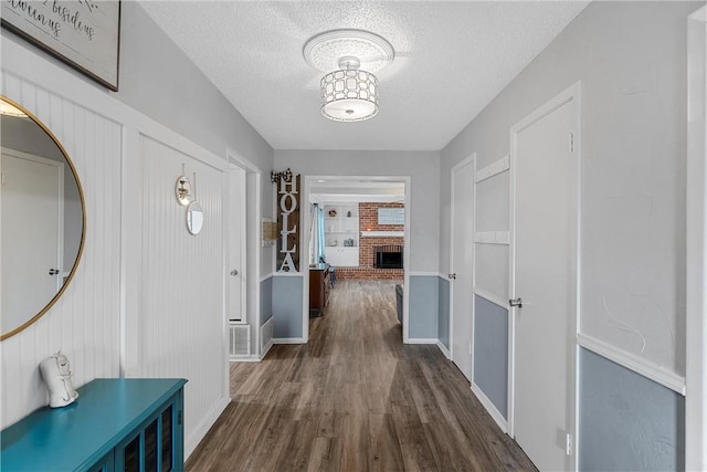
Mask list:
[[[80,387],[98,377],[183,377],[184,453],[230,401],[223,306],[225,159],[3,40],[0,91],[65,145],[84,186],[80,270],[38,323],[0,343],[2,428],[48,403],[38,365],[62,349]],[[22,78],[19,78],[22,77]],[[52,90],[38,87],[51,77]],[[179,149],[179,150],[176,150]],[[173,197],[197,172],[204,231]]]

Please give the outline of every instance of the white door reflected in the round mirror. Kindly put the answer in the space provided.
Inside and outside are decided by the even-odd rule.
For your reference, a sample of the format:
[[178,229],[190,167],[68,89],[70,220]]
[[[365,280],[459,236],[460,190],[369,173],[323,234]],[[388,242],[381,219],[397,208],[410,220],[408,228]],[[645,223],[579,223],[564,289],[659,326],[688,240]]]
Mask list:
[[63,164],[2,150],[2,333],[61,289]]

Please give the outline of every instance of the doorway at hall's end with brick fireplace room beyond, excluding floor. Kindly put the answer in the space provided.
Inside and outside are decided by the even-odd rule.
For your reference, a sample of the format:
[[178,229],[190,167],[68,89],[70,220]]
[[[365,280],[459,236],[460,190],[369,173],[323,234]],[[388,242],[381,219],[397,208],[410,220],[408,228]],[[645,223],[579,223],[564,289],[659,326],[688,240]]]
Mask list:
[[309,317],[326,316],[328,296],[337,283],[378,280],[391,282],[407,342],[409,191],[409,177],[305,177],[303,201],[307,208],[302,245],[308,250],[304,284],[307,310],[303,311],[306,339]]

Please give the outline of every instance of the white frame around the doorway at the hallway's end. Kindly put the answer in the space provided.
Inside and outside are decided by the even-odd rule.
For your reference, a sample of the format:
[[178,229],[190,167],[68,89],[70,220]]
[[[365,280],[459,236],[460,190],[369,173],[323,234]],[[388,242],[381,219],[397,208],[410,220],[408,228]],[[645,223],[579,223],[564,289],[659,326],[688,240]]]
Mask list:
[[[309,227],[312,225],[312,216],[309,211],[309,187],[313,181],[316,180],[381,180],[381,181],[397,181],[405,185],[405,229],[404,229],[404,242],[403,242],[403,284],[405,287],[410,286],[410,176],[303,176],[303,189],[300,212],[304,213],[304,218],[299,221],[302,223],[302,231],[299,233],[299,247],[300,262],[299,272],[304,276],[302,284],[302,337],[304,343],[309,340],[309,258],[303,258],[304,250],[308,251],[309,248]],[[402,296],[402,342],[408,344],[408,333],[410,324],[408,323],[408,300],[410,298],[410,290],[403,290]]]

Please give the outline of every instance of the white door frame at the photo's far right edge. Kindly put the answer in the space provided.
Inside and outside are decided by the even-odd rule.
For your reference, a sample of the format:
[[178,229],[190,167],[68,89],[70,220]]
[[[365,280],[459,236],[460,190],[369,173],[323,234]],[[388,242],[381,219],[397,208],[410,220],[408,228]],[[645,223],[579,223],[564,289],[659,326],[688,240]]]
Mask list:
[[707,469],[707,7],[687,20],[685,469]]

